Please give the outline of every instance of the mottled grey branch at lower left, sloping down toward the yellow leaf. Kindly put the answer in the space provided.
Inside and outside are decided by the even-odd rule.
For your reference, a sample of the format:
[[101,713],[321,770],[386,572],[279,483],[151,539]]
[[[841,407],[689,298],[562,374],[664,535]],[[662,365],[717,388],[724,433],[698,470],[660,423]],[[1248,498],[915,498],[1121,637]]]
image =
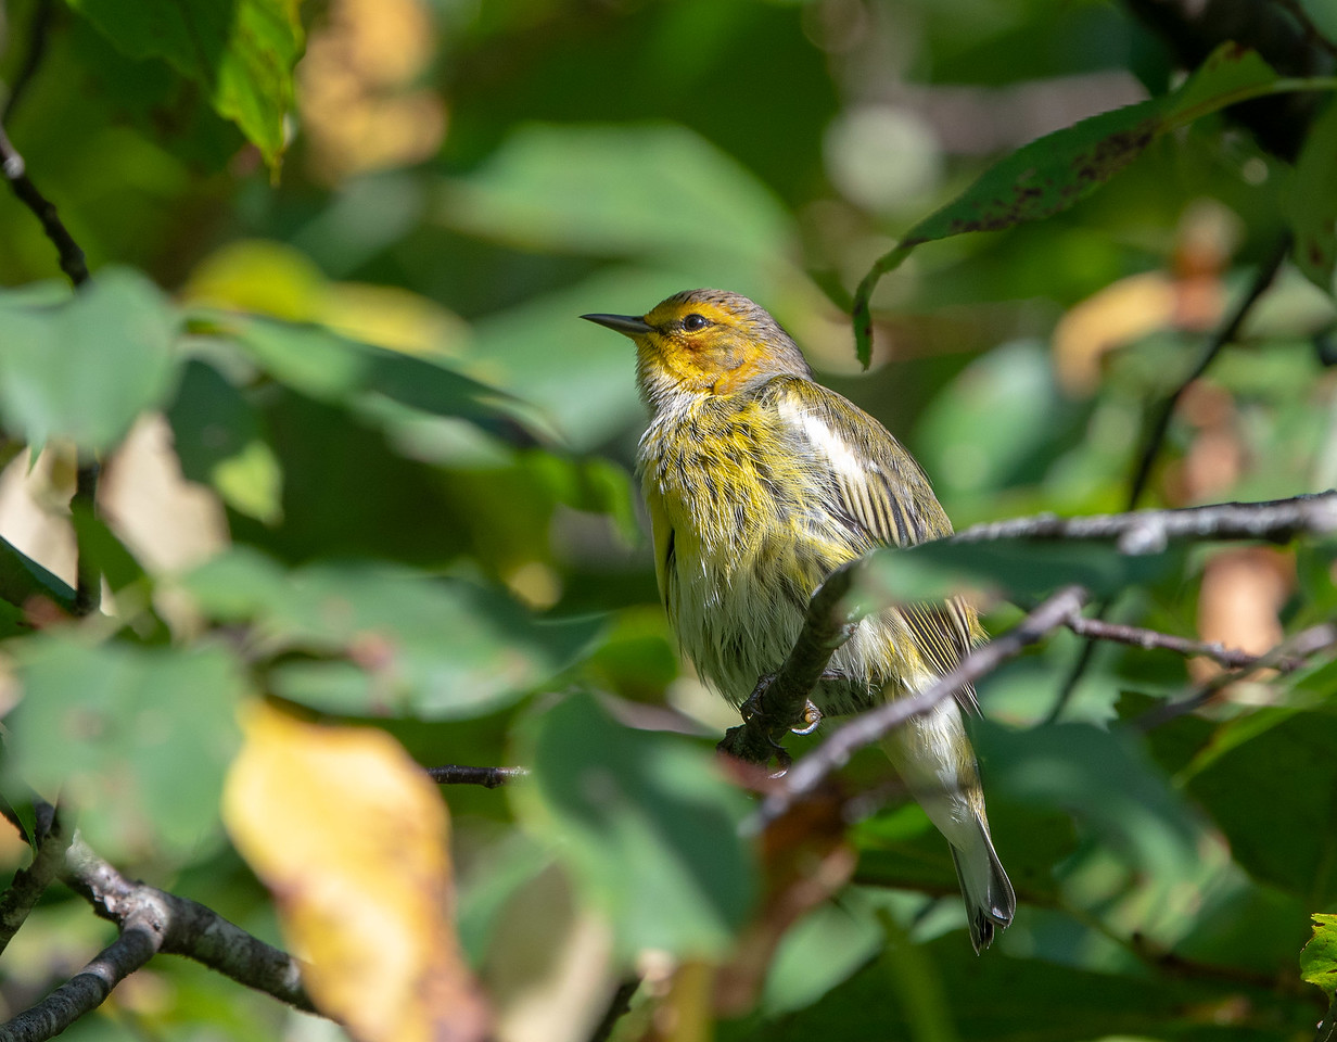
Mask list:
[[[239,984],[314,1013],[302,990],[301,963],[285,951],[251,936],[211,908],[175,894],[132,883],[99,857],[78,836],[66,855],[66,883],[122,930],[148,915],[160,940],[155,950],[185,955]],[[0,1035],[0,1042],[3,1042]]]

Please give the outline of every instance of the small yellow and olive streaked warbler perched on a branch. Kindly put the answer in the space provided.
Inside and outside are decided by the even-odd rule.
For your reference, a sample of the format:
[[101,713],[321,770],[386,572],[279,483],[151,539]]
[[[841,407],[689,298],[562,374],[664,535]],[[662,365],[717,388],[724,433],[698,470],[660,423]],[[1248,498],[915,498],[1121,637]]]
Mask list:
[[[794,340],[737,293],[675,293],[643,316],[584,314],[636,345],[650,421],[638,472],[670,625],[698,674],[734,705],[779,669],[808,602],[837,567],[952,524],[919,463],[876,419],[822,387]],[[810,698],[821,716],[933,684],[984,638],[960,598],[865,617]],[[951,847],[976,952],[1016,896],[993,848],[964,717],[969,686],[882,742]]]

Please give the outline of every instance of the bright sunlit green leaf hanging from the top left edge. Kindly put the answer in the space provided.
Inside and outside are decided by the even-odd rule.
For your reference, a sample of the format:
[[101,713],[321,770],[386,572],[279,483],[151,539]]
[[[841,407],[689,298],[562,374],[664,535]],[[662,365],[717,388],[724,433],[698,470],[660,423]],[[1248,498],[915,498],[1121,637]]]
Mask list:
[[302,54],[298,0],[67,0],[128,58],[164,59],[278,165]]

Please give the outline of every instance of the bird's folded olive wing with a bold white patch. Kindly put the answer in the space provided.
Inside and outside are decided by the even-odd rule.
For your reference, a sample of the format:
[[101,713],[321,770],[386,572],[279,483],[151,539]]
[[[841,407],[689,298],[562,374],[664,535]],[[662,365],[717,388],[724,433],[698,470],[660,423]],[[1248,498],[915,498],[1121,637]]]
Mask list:
[[[837,515],[860,540],[913,546],[951,535],[947,518],[915,457],[877,420],[810,380],[774,383],[777,408],[800,451],[829,475]],[[939,674],[952,670],[983,637],[975,609],[959,597],[900,607],[920,653]],[[973,688],[957,693],[979,713]]]

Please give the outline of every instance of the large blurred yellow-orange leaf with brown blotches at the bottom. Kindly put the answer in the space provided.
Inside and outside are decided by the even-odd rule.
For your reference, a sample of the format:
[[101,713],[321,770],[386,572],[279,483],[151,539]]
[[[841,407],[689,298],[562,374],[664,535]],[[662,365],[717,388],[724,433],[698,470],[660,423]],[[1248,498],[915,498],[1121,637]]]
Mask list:
[[316,1005],[360,1042],[469,1042],[488,1013],[452,914],[445,805],[400,745],[267,705],[243,721],[223,817],[309,962]]

